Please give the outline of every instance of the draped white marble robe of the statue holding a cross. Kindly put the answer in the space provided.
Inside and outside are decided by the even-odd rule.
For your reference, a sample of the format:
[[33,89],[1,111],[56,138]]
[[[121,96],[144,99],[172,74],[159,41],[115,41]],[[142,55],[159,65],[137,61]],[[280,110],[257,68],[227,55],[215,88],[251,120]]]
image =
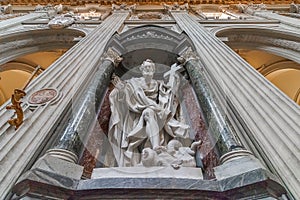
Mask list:
[[154,137],[159,137],[161,146],[174,137],[189,137],[189,126],[176,119],[180,105],[172,88],[157,80],[143,88],[143,81],[142,77],[127,80],[124,88],[115,88],[109,96],[108,139],[119,167],[137,165],[143,148],[152,147],[145,129],[147,112],[159,127],[159,135]]

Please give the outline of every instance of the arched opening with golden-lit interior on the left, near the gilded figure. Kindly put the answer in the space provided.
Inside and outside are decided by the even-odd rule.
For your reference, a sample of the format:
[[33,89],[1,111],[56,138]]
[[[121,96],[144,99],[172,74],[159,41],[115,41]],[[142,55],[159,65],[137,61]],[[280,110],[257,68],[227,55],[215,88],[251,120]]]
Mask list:
[[39,75],[84,36],[84,32],[76,29],[35,29],[2,35],[0,105],[11,97],[13,89],[23,87],[37,65],[43,63]]

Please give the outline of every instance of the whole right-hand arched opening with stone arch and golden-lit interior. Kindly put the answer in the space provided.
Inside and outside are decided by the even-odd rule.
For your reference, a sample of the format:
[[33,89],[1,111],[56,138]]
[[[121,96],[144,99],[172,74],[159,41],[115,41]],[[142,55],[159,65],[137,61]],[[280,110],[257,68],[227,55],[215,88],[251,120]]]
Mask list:
[[255,26],[223,27],[214,29],[213,33],[299,104],[299,33]]

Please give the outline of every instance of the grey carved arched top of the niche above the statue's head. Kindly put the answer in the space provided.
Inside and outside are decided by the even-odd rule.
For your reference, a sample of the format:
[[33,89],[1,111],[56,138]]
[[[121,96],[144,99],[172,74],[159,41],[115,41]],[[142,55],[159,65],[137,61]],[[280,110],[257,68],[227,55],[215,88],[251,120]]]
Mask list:
[[[194,44],[185,33],[177,33],[160,26],[146,25],[115,34],[107,48],[113,48],[123,58],[116,69],[118,75],[131,71],[149,58],[157,65],[171,66],[178,55]],[[133,73],[136,73],[133,71]]]

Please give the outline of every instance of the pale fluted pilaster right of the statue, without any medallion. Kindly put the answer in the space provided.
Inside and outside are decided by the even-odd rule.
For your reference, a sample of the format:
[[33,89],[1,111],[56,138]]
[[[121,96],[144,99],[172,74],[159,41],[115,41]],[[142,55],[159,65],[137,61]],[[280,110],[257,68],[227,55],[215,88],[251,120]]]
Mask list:
[[188,13],[172,15],[194,42],[207,76],[228,102],[223,106],[234,113],[234,123],[247,134],[239,136],[255,146],[272,172],[299,199],[299,106]]

